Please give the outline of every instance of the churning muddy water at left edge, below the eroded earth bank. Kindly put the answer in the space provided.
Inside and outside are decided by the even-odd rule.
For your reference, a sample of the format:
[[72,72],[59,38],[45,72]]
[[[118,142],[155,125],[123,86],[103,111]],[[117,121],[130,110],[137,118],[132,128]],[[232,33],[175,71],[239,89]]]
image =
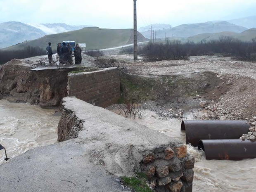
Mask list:
[[[10,159],[28,149],[57,141],[60,115],[56,116],[54,109],[0,100],[0,114],[0,144]],[[4,150],[1,150],[0,164],[4,163],[3,157]]]

